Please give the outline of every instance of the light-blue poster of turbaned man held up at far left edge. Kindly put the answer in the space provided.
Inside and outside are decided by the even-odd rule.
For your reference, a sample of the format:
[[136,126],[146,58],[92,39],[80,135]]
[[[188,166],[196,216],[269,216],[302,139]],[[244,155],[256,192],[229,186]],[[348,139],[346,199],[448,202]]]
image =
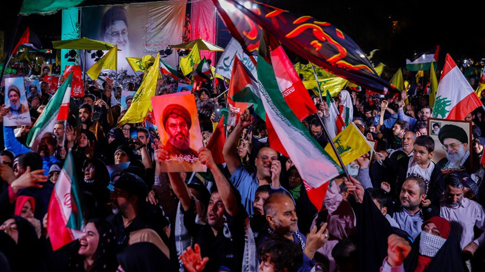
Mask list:
[[8,113],[3,117],[3,125],[30,124],[30,112],[25,95],[23,76],[5,78],[5,90],[5,108]]

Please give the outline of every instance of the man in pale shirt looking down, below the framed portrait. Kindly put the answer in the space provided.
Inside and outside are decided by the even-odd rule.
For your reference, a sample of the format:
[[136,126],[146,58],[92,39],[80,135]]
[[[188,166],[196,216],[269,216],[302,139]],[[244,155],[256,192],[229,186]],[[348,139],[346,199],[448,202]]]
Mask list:
[[463,197],[464,185],[457,174],[446,175],[444,181],[445,196],[440,203],[440,216],[463,228],[460,246],[463,253],[471,257],[485,241],[485,232],[474,239],[473,231],[474,227],[485,231],[485,211],[477,202]]

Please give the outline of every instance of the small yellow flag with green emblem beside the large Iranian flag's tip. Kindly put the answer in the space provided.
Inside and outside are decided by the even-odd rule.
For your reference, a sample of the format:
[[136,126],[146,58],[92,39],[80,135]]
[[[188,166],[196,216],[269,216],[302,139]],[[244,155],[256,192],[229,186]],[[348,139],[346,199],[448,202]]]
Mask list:
[[[362,135],[359,129],[354,123],[351,123],[347,128],[342,130],[339,135],[337,135],[333,142],[342,158],[343,164],[350,164],[350,162],[355,161],[358,157],[364,155],[365,153],[371,151],[371,146],[367,139]],[[337,162],[337,156],[332,150],[332,146],[327,144],[325,146],[325,151]]]

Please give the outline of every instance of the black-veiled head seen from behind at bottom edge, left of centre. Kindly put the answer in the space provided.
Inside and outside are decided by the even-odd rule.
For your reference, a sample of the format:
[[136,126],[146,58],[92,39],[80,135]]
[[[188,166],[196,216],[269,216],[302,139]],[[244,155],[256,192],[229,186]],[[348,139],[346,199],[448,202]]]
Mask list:
[[172,271],[170,260],[151,242],[134,243],[116,258],[125,272]]

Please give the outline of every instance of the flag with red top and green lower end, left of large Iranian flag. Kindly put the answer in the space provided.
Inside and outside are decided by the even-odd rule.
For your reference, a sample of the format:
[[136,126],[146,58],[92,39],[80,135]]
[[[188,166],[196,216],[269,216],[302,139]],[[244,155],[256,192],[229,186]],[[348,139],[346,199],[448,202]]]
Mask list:
[[255,113],[266,120],[264,107],[259,97],[258,80],[248,71],[237,56],[234,56],[231,81],[229,82],[229,98],[234,102],[253,103]]

